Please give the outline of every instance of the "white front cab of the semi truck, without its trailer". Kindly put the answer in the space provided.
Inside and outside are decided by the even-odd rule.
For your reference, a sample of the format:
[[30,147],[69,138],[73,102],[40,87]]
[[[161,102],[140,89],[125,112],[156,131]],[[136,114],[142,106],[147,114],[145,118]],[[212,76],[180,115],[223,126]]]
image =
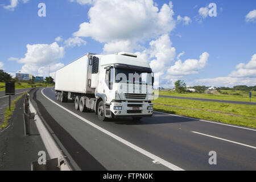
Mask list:
[[[133,117],[139,120],[153,113],[152,85],[154,76],[146,60],[133,53],[94,55],[99,58],[95,96],[104,106],[97,107],[99,119]],[[102,116],[104,114],[105,116]]]

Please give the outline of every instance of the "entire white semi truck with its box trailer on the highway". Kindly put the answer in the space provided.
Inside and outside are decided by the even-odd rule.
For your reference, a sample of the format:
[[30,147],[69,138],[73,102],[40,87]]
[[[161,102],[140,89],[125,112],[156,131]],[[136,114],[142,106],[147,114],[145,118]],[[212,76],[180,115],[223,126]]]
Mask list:
[[87,53],[56,72],[57,100],[94,111],[98,119],[151,117],[154,73],[146,60],[128,52]]

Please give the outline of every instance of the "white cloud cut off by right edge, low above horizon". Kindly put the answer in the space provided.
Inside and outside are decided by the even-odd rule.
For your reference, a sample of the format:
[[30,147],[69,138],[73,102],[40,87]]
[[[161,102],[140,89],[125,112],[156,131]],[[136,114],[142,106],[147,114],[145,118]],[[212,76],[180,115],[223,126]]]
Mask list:
[[249,63],[240,63],[236,66],[236,71],[230,73],[231,77],[256,77],[256,54],[251,56]]

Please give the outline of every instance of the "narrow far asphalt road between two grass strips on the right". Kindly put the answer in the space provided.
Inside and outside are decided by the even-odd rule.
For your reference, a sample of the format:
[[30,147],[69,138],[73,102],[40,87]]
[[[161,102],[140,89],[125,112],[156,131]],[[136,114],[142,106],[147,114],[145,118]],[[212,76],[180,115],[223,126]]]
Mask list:
[[[177,97],[177,96],[162,96],[162,95],[159,95],[159,97],[180,98],[180,99],[196,100],[196,101],[208,101],[208,102],[223,102],[223,103],[230,103],[230,104],[256,105],[256,102],[226,101],[226,100],[216,100],[216,99],[208,99],[208,98]],[[249,98],[248,98],[248,100],[249,100]]]

